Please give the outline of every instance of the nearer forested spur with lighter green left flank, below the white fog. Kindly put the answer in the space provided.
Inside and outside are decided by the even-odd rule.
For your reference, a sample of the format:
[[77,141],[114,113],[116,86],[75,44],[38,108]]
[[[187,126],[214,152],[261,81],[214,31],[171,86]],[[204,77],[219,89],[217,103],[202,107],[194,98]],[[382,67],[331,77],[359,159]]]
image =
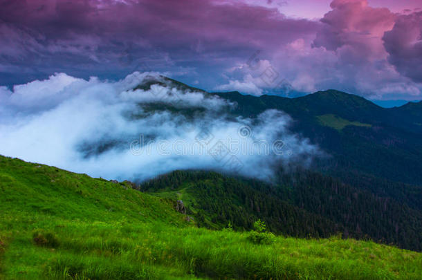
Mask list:
[[164,195],[185,189],[183,201],[187,203],[189,198],[194,198],[192,203],[187,203],[191,210],[188,214],[193,214],[200,226],[209,228],[223,228],[230,222],[235,230],[252,230],[254,221],[261,218],[271,232],[290,236],[328,237],[339,230],[327,218],[273,196],[273,188],[269,185],[214,172],[174,171],[143,183],[140,189],[162,191]]

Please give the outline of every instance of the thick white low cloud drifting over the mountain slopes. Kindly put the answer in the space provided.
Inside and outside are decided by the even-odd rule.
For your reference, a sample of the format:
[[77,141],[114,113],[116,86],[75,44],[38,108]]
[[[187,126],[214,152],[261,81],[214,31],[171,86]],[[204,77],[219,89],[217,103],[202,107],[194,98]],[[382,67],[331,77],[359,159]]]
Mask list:
[[318,154],[289,131],[288,115],[240,118],[230,113],[236,104],[158,73],[118,82],[57,73],[1,87],[0,100],[0,154],[108,179],[209,169],[270,180],[275,166],[307,165]]

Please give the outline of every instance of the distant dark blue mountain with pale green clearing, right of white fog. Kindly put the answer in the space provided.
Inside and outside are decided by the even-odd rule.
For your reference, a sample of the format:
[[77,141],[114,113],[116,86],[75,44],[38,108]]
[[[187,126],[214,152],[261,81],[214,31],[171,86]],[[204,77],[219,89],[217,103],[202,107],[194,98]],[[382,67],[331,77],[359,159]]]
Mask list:
[[[183,83],[162,79],[167,86],[195,91]],[[294,120],[291,130],[309,138],[328,155],[314,160],[313,170],[421,209],[422,102],[385,109],[363,97],[335,90],[296,98],[210,94],[235,104],[230,108],[233,118],[256,118],[268,109],[284,111]]]

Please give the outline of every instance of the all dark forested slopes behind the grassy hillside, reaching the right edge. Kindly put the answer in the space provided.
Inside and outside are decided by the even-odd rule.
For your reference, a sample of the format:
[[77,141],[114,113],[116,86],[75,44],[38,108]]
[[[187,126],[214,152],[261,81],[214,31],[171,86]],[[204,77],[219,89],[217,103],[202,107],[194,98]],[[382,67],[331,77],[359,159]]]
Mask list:
[[182,194],[188,212],[205,227],[252,230],[262,219],[270,232],[297,237],[345,237],[422,250],[421,212],[309,171],[279,174],[277,184],[230,178],[214,172],[174,171],[140,185],[172,198]]

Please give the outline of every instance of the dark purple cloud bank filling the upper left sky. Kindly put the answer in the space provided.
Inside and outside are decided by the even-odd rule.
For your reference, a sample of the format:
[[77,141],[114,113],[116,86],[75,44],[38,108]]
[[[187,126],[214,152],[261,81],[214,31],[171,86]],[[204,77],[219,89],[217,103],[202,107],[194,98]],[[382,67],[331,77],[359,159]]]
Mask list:
[[[273,8],[220,0],[17,0],[0,5],[0,62],[39,77],[61,71],[122,77],[140,63],[148,68],[143,71],[207,68],[243,59],[255,48],[276,49],[318,26],[288,19]],[[20,73],[12,73],[7,84],[28,82]]]

